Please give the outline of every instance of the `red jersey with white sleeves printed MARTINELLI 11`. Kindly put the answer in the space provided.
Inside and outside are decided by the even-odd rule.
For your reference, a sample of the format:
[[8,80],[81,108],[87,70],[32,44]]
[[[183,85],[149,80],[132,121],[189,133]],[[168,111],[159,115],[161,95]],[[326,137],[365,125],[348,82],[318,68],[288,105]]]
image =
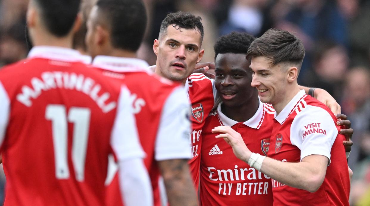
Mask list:
[[108,155],[144,156],[130,93],[110,82],[61,47],[0,70],[4,205],[105,205]]

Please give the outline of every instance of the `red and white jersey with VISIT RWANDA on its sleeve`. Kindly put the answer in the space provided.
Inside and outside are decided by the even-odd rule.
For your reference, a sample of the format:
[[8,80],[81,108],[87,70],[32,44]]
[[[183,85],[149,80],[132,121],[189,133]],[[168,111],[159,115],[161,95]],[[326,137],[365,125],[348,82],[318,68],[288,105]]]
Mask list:
[[[319,190],[289,187],[272,180],[274,205],[349,205],[349,174],[340,127],[327,106],[301,90],[276,116],[268,156],[283,162],[300,162],[309,155],[329,159]],[[303,201],[303,202],[302,202]]]

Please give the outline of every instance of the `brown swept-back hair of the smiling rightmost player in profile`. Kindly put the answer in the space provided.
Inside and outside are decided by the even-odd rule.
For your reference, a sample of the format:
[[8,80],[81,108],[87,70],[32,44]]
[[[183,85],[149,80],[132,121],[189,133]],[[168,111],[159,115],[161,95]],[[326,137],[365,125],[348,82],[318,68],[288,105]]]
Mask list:
[[250,44],[247,58],[263,56],[270,60],[271,66],[290,62],[302,66],[305,47],[302,41],[288,31],[269,29]]

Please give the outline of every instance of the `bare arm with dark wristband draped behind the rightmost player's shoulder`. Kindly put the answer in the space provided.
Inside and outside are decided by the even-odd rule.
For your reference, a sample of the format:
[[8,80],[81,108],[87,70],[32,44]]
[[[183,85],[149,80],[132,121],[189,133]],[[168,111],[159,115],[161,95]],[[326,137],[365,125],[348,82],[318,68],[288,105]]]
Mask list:
[[[305,90],[306,94],[309,94],[309,87],[299,86],[299,89]],[[313,92],[313,97],[319,100],[320,102],[324,103],[334,114],[340,113],[340,105],[337,103],[337,101],[330,95],[328,92],[326,92],[323,89],[316,88]]]

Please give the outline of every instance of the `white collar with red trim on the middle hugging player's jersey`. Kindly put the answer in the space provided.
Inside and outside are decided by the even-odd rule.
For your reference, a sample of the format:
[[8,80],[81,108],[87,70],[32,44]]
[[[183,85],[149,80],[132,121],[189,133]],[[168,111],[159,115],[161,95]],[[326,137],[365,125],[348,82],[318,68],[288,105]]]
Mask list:
[[[230,119],[229,117],[227,117],[225,114],[221,112],[221,104],[222,103],[218,104],[217,113],[223,125],[232,127],[235,124],[239,123],[235,120]],[[249,120],[243,122],[243,124],[245,124],[248,127],[254,128],[254,129],[259,129],[263,121],[264,113],[265,113],[265,108],[263,107],[263,103],[259,101],[257,112]]]

